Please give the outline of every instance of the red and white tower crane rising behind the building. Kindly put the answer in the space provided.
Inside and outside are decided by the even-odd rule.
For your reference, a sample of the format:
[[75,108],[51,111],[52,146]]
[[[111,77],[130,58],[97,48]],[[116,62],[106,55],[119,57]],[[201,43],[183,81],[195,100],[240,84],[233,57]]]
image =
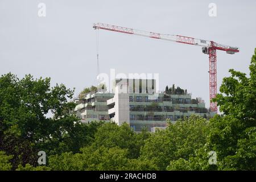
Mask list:
[[[226,51],[226,53],[229,53],[229,54],[234,54],[236,52],[239,52],[238,47],[226,46],[223,44],[218,44],[213,41],[204,40],[204,39],[195,39],[195,38],[191,38],[188,36],[182,36],[182,35],[159,34],[156,32],[135,30],[133,28],[114,26],[114,25],[104,24],[104,23],[95,23],[95,24],[93,24],[93,28],[108,30],[108,31],[115,31],[115,32],[123,33],[123,34],[146,36],[146,37],[152,38],[152,39],[169,40],[172,42],[191,44],[194,46],[203,47],[202,48],[203,53],[209,55],[210,101],[212,100],[212,98],[216,98],[216,94],[217,94],[216,50]],[[210,102],[210,110],[217,113],[217,103],[216,102]]]

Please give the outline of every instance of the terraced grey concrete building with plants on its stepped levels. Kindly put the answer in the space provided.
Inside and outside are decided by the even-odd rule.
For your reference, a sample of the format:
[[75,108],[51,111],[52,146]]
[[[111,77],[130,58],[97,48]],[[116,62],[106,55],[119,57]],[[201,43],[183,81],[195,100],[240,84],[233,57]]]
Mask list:
[[[134,85],[135,82],[139,86]],[[126,122],[134,131],[155,131],[167,121],[175,122],[191,114],[209,119],[214,112],[204,101],[192,99],[189,93],[156,92],[156,80],[116,79],[112,92],[90,92],[76,99],[75,111],[84,123],[110,120],[118,125]],[[137,88],[137,89],[136,89]]]

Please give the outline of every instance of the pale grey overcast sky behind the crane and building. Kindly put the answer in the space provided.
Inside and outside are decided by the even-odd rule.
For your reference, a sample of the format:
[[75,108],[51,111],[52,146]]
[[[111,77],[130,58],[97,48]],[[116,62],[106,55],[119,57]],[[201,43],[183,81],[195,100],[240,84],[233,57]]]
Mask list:
[[[217,16],[208,15],[216,3]],[[45,3],[46,17],[38,16]],[[256,47],[256,1],[82,1],[0,0],[0,75],[31,73],[52,85],[96,84],[96,31],[93,23],[191,36],[240,47],[217,51],[218,87],[228,70],[249,73]],[[134,35],[99,32],[100,72],[159,73],[159,86],[175,84],[209,106],[209,61],[201,47]]]

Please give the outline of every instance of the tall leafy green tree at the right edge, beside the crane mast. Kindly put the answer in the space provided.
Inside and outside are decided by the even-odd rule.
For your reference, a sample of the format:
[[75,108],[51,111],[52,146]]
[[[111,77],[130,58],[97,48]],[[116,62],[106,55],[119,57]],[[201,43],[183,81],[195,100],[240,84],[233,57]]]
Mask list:
[[[224,115],[210,119],[207,143],[188,160],[191,170],[256,169],[255,55],[249,67],[250,77],[230,69],[231,76],[223,79],[221,94],[213,101],[217,101]],[[209,165],[209,151],[216,152],[216,165]]]

